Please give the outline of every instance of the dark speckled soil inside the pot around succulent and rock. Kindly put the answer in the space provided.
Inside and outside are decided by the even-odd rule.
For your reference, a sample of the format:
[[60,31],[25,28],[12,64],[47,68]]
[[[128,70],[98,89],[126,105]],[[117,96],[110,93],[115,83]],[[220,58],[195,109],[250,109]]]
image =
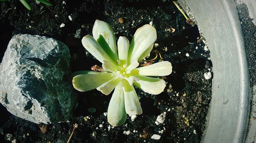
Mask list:
[[[207,59],[210,53],[204,50],[202,40],[198,40],[197,25],[188,25],[171,1],[55,0],[51,1],[53,7],[29,2],[32,11],[18,1],[0,3],[1,59],[11,36],[26,33],[66,43],[72,55],[72,72],[90,70],[100,64],[82,47],[80,40],[84,35],[92,35],[96,19],[108,22],[117,38],[126,36],[130,40],[138,27],[153,21],[158,36],[158,46],[154,49],[161,53],[164,61],[173,64],[173,73],[165,77],[167,86],[160,95],[136,89],[143,114],[133,122],[128,117],[124,125],[116,128],[110,126],[105,116],[111,96],[97,90],[77,92],[79,104],[73,117],[63,123],[34,124],[11,116],[1,107],[1,142],[11,142],[7,136],[17,142],[67,142],[74,124],[78,124],[78,128],[71,142],[200,142],[211,99],[211,79],[204,78],[212,66]],[[122,24],[119,18],[123,18]],[[65,27],[60,28],[61,23]],[[171,27],[175,28],[174,33],[168,31]],[[154,56],[153,50],[148,59]],[[164,123],[156,125],[157,116],[164,112]],[[151,139],[153,134],[161,135],[160,140]]]

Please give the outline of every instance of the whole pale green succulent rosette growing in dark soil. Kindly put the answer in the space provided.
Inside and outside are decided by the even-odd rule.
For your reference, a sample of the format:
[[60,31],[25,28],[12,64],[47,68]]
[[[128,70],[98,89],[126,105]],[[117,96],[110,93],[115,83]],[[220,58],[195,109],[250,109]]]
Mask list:
[[131,44],[127,38],[119,37],[116,45],[113,29],[100,20],[94,23],[93,37],[86,35],[82,38],[82,45],[102,63],[103,71],[77,72],[73,77],[73,87],[80,92],[97,89],[105,95],[115,89],[108,107],[108,122],[112,126],[125,123],[127,114],[142,114],[133,85],[153,95],[163,92],[165,81],[148,76],[169,75],[172,73],[172,64],[163,61],[138,67],[138,61],[151,52],[156,39],[156,29],[145,24],[135,32]]

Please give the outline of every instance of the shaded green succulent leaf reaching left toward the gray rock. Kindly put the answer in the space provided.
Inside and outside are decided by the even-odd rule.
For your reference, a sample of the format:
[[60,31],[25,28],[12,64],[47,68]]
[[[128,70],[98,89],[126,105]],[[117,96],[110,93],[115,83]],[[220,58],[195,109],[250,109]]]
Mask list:
[[101,84],[113,79],[116,74],[113,73],[102,73],[102,72],[95,72],[93,74],[79,74],[73,77],[72,83],[73,87],[80,91],[86,92],[93,89],[96,89]]

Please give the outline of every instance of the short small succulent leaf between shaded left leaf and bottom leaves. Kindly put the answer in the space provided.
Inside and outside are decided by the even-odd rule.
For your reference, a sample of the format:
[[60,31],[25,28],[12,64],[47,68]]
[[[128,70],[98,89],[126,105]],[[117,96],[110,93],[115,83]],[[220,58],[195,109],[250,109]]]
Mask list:
[[118,83],[120,83],[120,81],[122,81],[123,78],[120,78],[118,76],[114,77],[113,79],[101,84],[97,90],[100,91],[101,93],[103,93],[104,95],[109,95],[114,88],[117,86]]

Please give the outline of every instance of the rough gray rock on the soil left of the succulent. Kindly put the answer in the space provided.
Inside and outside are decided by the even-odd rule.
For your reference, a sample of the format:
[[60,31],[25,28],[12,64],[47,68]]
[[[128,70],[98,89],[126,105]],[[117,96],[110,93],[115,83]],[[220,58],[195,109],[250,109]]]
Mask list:
[[57,40],[14,36],[0,65],[0,102],[34,123],[68,120],[76,104],[69,62],[68,47]]

